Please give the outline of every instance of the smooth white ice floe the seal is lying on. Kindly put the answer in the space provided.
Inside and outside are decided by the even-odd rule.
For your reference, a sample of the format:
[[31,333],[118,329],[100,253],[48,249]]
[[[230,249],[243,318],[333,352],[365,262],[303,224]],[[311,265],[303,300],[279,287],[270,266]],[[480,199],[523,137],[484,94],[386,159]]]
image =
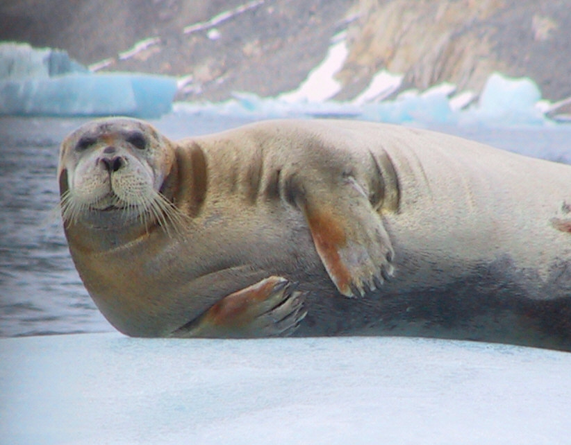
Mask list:
[[0,340],[6,444],[563,444],[571,354],[420,338]]

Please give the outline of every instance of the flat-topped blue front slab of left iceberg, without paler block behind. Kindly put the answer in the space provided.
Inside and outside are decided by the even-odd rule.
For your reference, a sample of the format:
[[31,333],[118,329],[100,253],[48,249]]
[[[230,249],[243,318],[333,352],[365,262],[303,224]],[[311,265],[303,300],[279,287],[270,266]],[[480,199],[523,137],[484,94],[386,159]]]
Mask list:
[[136,73],[70,74],[0,82],[0,114],[142,118],[169,112],[176,79]]

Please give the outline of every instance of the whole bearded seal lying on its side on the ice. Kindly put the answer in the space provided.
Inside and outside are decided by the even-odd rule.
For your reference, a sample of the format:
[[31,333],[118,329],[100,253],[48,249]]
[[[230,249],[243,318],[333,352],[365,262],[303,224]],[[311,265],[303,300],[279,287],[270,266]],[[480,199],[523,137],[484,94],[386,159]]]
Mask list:
[[420,335],[571,350],[571,166],[397,125],[64,141],[65,234],[141,337]]

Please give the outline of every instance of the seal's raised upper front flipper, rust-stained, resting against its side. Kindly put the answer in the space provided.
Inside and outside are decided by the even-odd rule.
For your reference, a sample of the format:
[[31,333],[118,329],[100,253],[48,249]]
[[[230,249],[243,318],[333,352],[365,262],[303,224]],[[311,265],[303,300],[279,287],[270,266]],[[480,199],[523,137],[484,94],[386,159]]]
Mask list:
[[394,251],[381,216],[354,177],[346,176],[342,188],[303,193],[298,205],[339,292],[362,297],[392,276]]

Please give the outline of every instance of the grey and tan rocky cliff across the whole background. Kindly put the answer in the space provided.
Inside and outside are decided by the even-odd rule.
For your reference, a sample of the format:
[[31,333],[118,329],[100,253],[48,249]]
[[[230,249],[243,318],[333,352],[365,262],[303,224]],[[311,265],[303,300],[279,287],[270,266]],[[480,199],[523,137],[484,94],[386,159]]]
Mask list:
[[[337,98],[381,69],[402,88],[480,91],[493,71],[571,96],[570,0],[4,0],[0,40],[65,49],[95,69],[186,76],[179,98],[299,85],[347,29]],[[141,42],[135,46],[138,42]]]

